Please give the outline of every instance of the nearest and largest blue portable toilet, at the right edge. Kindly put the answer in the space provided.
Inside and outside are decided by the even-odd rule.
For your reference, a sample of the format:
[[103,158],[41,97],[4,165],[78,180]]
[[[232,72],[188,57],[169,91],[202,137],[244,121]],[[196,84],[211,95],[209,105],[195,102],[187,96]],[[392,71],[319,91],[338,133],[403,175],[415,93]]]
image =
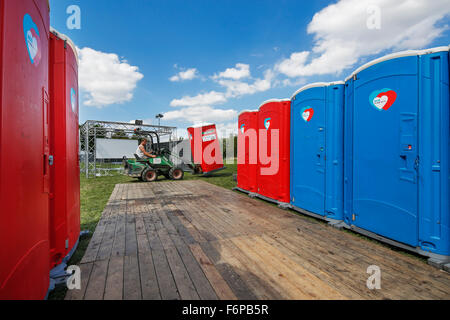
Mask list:
[[345,92],[344,221],[448,262],[449,48],[369,62]]

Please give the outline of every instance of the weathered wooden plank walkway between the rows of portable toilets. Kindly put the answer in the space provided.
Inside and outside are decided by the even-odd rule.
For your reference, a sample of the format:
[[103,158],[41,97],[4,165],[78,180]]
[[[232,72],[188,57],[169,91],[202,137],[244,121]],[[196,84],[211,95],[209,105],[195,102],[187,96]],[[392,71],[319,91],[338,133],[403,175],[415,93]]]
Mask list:
[[80,267],[66,299],[450,299],[444,271],[203,181],[117,185]]

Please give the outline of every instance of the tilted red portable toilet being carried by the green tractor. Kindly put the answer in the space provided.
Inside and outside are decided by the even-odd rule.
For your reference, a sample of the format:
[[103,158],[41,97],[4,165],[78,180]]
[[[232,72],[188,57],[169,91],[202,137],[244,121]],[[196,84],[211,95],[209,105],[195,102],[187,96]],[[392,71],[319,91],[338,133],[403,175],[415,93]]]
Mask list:
[[216,125],[199,125],[187,129],[191,141],[192,158],[200,165],[203,174],[212,173],[224,168],[222,148]]

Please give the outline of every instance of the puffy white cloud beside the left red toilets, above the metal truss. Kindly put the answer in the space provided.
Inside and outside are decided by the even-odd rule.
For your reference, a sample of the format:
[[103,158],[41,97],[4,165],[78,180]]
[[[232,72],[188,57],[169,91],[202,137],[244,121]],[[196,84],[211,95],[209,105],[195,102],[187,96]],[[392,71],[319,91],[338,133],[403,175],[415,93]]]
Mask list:
[[91,48],[78,49],[79,84],[84,105],[105,107],[133,99],[137,83],[144,77],[139,68],[114,53]]

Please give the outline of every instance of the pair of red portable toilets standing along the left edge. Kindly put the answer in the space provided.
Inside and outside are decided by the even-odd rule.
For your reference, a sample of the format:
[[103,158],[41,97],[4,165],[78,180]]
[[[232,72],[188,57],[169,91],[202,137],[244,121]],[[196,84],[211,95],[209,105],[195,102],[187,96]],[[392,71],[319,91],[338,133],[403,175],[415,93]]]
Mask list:
[[49,10],[0,4],[1,300],[44,299],[80,235],[78,59]]

